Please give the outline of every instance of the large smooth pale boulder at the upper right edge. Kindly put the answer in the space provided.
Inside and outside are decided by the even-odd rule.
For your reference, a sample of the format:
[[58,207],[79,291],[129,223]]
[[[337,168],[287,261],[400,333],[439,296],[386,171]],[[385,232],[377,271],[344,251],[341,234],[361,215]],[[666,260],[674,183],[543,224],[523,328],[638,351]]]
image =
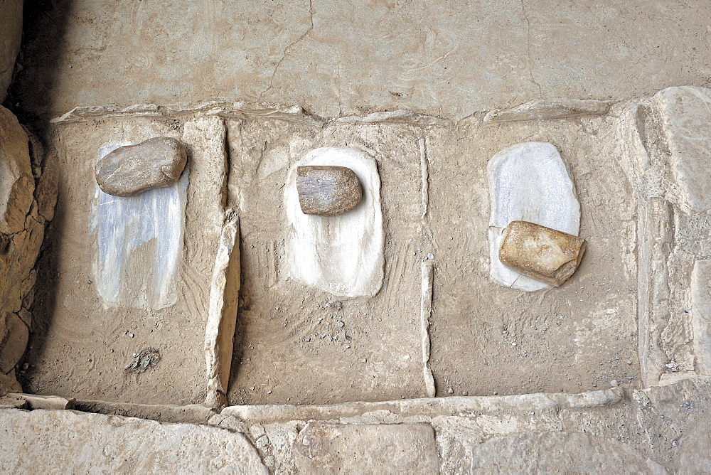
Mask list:
[[667,87],[654,96],[678,186],[689,206],[711,210],[711,89]]

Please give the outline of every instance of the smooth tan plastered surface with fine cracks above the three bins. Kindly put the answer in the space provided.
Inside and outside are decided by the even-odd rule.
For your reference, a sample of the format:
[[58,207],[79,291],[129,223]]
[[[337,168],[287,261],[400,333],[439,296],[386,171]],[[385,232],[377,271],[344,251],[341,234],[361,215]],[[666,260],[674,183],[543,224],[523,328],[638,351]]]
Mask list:
[[711,4],[59,0],[26,25],[14,100],[299,104],[445,117],[537,97],[631,99],[711,79]]

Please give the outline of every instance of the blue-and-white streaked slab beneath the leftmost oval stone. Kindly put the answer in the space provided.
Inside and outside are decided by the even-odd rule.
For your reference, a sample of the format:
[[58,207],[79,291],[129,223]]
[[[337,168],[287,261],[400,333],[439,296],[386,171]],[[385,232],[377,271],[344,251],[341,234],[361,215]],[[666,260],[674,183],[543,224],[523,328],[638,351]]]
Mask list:
[[[99,159],[119,146],[102,146]],[[96,289],[107,306],[159,310],[178,301],[188,169],[171,186],[112,196],[95,186],[91,231]]]

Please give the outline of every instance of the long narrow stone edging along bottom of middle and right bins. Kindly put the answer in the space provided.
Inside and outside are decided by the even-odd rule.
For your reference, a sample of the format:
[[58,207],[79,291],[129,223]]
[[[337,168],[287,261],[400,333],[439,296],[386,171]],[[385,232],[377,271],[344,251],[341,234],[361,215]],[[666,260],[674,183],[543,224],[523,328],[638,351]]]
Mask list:
[[589,409],[614,405],[624,398],[621,387],[579,394],[535,393],[510,396],[425,397],[383,402],[346,402],[336,405],[242,405],[228,406],[221,415],[256,422],[333,420],[369,412],[387,411],[402,417],[455,416],[468,412],[500,410]]

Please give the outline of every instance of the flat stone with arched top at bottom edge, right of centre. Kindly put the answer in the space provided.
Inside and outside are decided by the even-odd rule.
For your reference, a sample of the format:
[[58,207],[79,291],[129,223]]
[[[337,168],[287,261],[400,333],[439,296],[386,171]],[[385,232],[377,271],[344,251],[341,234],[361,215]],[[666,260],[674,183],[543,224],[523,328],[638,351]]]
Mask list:
[[471,473],[664,472],[624,442],[590,434],[516,434],[473,445]]

